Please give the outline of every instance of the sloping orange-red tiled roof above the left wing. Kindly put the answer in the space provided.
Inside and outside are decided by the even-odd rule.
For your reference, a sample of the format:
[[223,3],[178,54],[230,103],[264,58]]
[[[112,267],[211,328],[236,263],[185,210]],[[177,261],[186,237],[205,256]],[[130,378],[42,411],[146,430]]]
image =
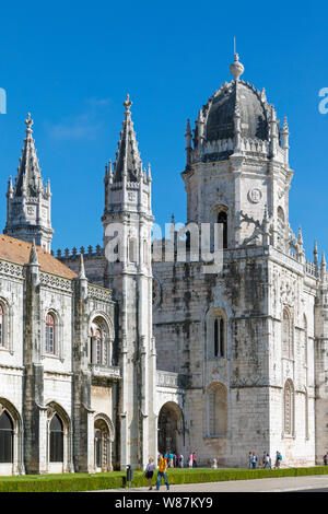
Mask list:
[[[68,268],[60,260],[52,257],[40,246],[35,246],[37,252],[38,264],[40,270],[47,273],[57,274],[66,279],[73,279],[78,274]],[[19,265],[25,265],[30,261],[32,244],[25,241],[10,237],[9,235],[0,234],[0,259],[9,260]]]

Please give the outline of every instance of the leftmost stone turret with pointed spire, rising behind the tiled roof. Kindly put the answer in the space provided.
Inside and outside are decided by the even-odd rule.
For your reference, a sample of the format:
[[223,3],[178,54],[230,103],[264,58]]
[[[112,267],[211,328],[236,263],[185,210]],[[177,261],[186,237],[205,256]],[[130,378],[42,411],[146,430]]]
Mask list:
[[50,180],[43,185],[40,167],[32,137],[33,119],[28,113],[26,138],[14,185],[9,179],[7,190],[7,223],[3,233],[19,240],[51,249],[54,230],[51,227]]

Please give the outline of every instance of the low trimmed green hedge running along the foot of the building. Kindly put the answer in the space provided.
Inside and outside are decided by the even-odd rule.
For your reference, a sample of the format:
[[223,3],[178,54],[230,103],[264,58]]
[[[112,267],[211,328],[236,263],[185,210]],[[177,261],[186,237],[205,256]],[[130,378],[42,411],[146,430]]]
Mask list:
[[[220,482],[227,480],[250,480],[258,478],[301,477],[309,475],[328,475],[328,467],[286,469],[168,469],[171,484]],[[132,488],[147,487],[142,471],[133,472]],[[67,474],[67,475],[30,475],[22,477],[1,477],[0,492],[75,492],[104,489],[126,488],[126,474]]]

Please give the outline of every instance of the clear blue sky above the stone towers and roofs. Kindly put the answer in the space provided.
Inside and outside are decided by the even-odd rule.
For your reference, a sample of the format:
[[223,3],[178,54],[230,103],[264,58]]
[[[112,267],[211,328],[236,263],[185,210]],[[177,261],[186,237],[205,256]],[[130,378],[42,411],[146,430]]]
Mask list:
[[289,117],[295,171],[290,221],[307,247],[328,250],[327,2],[16,1],[1,7],[0,225],[31,110],[42,173],[51,179],[52,248],[102,243],[104,165],[115,157],[127,92],[153,210],[186,219],[180,172],[186,119],[230,80],[233,35],[244,79]]

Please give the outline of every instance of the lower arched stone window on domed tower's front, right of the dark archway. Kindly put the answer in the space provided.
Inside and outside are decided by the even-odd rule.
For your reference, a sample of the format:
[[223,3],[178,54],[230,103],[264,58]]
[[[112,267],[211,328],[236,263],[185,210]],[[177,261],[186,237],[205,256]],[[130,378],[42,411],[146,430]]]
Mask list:
[[227,431],[227,390],[223,384],[212,384],[208,389],[209,436],[224,436]]

